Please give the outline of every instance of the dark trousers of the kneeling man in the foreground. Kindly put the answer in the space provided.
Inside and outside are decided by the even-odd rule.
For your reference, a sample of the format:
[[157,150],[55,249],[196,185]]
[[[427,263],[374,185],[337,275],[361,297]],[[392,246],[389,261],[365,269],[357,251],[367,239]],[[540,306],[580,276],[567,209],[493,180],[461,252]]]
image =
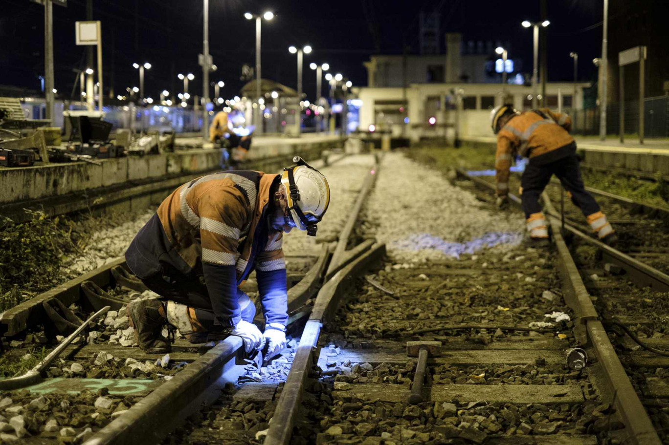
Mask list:
[[[161,296],[161,300],[172,300],[195,309],[197,321],[209,332],[222,331],[223,326],[214,325],[214,313],[211,309],[211,299],[207,286],[199,277],[185,277],[181,273],[169,274],[157,273],[151,277],[142,279],[149,289]],[[256,317],[256,305],[248,301],[246,293],[237,289],[237,301],[242,309],[242,319],[253,323]]]

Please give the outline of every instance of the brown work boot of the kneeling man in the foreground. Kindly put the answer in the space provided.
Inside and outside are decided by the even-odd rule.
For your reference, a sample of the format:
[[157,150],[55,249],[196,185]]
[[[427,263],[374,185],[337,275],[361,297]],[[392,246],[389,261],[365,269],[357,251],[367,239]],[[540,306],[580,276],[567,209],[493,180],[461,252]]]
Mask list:
[[163,303],[156,299],[132,301],[127,306],[130,326],[137,334],[137,344],[150,354],[164,354],[171,350],[169,340],[163,337],[167,316]]

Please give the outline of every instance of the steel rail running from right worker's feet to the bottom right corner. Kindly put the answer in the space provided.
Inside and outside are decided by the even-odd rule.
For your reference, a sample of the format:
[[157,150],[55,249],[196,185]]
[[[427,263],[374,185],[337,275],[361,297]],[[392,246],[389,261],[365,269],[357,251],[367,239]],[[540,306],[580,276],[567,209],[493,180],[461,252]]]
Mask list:
[[[478,179],[470,178],[462,170],[458,170],[458,174],[471,180]],[[494,184],[490,184],[490,182],[484,180],[474,180],[474,183],[492,190],[495,188]],[[511,199],[516,203],[520,202],[520,199],[517,196],[512,196]],[[650,417],[648,417],[648,413],[639,399],[638,394],[636,394],[620,359],[615,353],[615,349],[613,348],[613,345],[611,345],[611,341],[609,341],[609,337],[601,324],[601,321],[597,319],[597,313],[592,304],[592,300],[587,293],[587,289],[585,289],[581,275],[571,257],[571,253],[569,253],[569,248],[562,237],[560,231],[561,222],[559,218],[552,216],[552,214],[557,213],[555,212],[555,208],[553,208],[553,204],[546,192],[543,194],[543,200],[551,213],[549,222],[553,229],[553,240],[555,241],[561,259],[561,264],[558,269],[563,279],[563,286],[566,287],[565,303],[567,303],[579,317],[579,319],[577,319],[577,325],[580,325],[581,329],[585,329],[587,338],[595,349],[599,365],[601,365],[605,374],[608,390],[607,396],[613,397],[615,395],[615,400],[613,400],[613,402],[617,408],[617,412],[620,413],[624,420],[626,429],[629,433],[628,438],[632,443],[637,445],[660,445],[662,444],[662,441],[660,440]],[[569,229],[569,226],[565,225],[565,229]],[[588,235],[583,233],[581,233],[581,235],[591,239]],[[603,243],[599,243],[599,241],[593,241],[603,245]]]

